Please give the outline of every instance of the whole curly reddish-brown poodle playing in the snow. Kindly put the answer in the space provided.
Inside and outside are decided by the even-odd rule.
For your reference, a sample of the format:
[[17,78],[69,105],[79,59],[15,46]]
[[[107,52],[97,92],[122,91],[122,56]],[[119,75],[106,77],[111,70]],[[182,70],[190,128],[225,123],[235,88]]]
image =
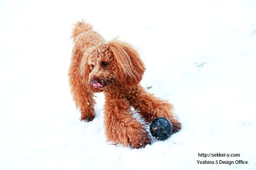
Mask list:
[[[154,97],[140,85],[146,70],[138,52],[126,42],[105,39],[90,24],[74,24],[74,47],[69,67],[69,84],[81,120],[95,116],[93,94],[104,92],[104,124],[108,141],[130,148],[144,148],[151,143],[145,124],[166,117],[179,131],[181,124],[168,101]],[[145,123],[134,118],[131,107]]]

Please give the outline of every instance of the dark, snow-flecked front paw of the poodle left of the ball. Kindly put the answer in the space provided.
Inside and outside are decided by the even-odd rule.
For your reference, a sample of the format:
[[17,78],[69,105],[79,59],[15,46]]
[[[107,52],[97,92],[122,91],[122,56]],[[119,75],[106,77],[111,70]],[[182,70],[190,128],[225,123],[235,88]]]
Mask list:
[[130,148],[132,149],[140,149],[140,148],[145,148],[147,144],[151,144],[151,137],[148,134],[148,132],[143,132],[140,135],[137,135],[134,139],[133,142],[130,142]]

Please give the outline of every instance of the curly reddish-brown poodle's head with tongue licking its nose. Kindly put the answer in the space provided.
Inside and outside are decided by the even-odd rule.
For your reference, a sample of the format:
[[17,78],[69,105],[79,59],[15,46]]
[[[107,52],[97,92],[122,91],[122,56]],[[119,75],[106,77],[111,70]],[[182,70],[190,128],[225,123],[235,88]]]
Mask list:
[[87,49],[80,70],[88,87],[93,92],[102,92],[113,85],[136,86],[146,69],[140,55],[130,44],[113,39]]

